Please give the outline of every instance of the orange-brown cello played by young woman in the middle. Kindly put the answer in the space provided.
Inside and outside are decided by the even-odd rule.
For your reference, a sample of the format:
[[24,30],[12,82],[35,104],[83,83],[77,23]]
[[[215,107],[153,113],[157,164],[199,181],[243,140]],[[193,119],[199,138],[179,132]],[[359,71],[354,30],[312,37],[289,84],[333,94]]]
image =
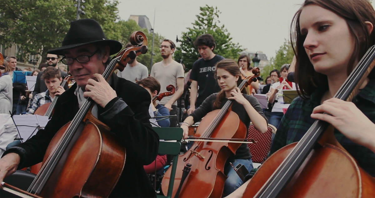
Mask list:
[[[241,82],[239,89],[256,81],[259,68],[253,69],[254,76]],[[233,100],[228,100],[222,109],[209,112],[199,124],[195,137],[209,139],[244,140],[247,134],[245,124],[230,110]],[[245,143],[245,142],[244,142]],[[172,190],[172,197],[221,197],[226,176],[224,165],[231,154],[235,154],[241,143],[195,142],[191,148],[178,157],[174,181],[170,180],[169,168],[162,180],[164,193]],[[173,185],[173,189],[168,189]]]

